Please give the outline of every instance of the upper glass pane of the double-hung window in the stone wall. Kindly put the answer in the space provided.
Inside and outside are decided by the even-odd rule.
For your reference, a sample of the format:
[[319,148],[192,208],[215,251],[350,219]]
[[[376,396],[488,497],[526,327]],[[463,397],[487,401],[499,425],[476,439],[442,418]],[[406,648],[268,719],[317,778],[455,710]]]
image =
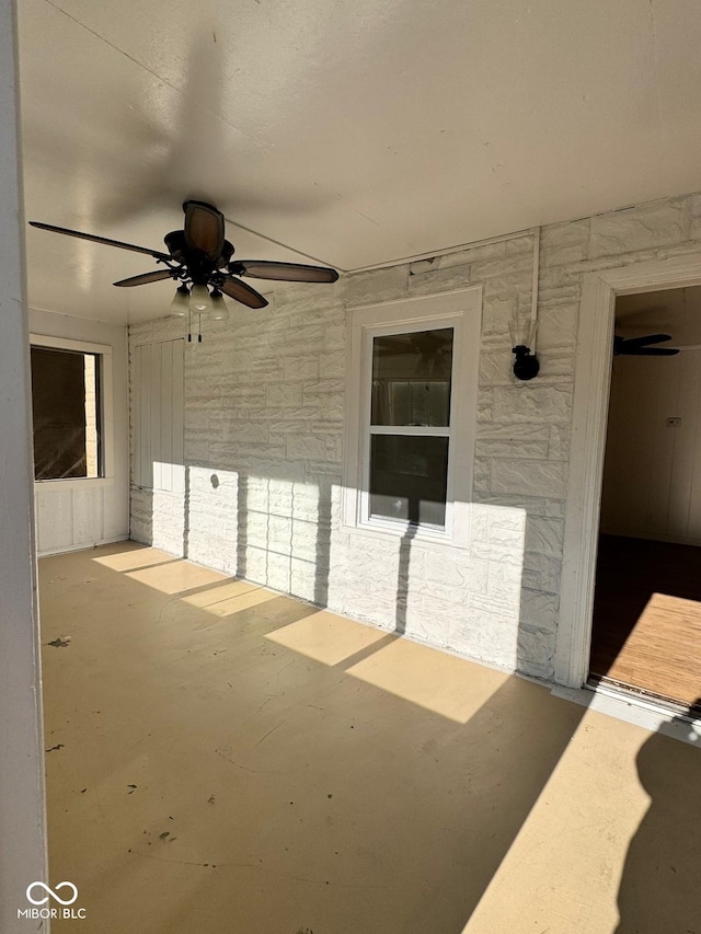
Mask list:
[[450,424],[452,327],[376,337],[372,425]]

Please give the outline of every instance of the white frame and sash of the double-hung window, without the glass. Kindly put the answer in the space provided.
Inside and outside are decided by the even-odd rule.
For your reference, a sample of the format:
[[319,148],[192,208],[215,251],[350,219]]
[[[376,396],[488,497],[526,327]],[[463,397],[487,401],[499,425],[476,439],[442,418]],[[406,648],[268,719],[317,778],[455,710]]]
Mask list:
[[[346,529],[401,538],[410,530],[418,542],[467,547],[472,499],[476,422],[482,287],[435,296],[363,305],[350,313],[347,419],[344,454],[342,522]],[[370,430],[372,341],[378,336],[453,328],[449,428],[375,426]],[[448,437],[446,523],[443,529],[370,516],[371,434]]]

